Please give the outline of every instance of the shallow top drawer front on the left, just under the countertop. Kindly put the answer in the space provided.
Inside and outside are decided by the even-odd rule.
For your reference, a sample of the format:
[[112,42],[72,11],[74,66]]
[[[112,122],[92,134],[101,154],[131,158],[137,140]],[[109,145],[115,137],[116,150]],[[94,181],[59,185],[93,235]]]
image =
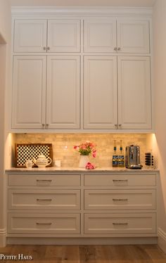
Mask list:
[[80,186],[80,175],[8,174],[8,186]]

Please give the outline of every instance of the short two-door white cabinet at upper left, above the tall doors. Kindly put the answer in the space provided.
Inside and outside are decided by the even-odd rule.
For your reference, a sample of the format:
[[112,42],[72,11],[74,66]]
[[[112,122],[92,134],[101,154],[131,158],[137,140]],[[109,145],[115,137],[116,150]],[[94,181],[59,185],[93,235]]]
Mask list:
[[15,20],[14,52],[79,51],[79,20]]

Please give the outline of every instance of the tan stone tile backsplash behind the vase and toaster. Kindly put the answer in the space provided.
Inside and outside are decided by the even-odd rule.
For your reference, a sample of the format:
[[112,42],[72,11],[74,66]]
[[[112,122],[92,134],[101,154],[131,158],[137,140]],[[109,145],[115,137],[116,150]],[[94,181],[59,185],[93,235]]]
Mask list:
[[113,140],[117,141],[117,150],[120,140],[125,153],[125,147],[131,144],[140,146],[141,164],[144,163],[147,134],[15,134],[15,143],[52,143],[53,160],[61,160],[62,167],[78,167],[79,153],[73,146],[84,141],[96,143],[96,158],[90,161],[98,167],[111,167],[113,155]]

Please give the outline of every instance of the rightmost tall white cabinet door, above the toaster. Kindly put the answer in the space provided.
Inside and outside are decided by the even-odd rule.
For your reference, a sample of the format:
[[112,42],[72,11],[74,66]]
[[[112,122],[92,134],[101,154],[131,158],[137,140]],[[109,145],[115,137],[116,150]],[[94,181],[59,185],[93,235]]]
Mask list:
[[151,129],[150,58],[120,56],[118,124],[122,129]]

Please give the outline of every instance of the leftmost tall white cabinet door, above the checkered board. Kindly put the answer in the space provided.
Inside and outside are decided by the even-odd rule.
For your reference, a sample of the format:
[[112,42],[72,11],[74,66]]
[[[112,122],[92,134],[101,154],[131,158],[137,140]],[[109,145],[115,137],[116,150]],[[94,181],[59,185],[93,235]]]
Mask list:
[[14,56],[12,128],[41,129],[45,100],[46,56]]

